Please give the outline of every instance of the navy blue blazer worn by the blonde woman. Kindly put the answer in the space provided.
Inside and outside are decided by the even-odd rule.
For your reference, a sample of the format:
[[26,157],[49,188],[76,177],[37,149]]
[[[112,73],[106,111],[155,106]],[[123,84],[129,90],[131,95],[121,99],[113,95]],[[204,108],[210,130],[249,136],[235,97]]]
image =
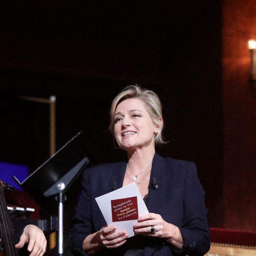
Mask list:
[[[84,171],[83,190],[73,218],[70,245],[78,255],[86,255],[82,245],[84,239],[106,225],[95,198],[111,192],[112,184],[121,188],[126,162],[94,166]],[[163,245],[162,239],[147,237],[144,256],[204,255],[210,248],[210,231],[204,191],[197,177],[193,162],[162,158],[154,155],[151,178],[155,178],[158,189],[149,188],[147,208],[173,223],[184,239],[183,250],[177,251]],[[98,255],[115,255],[113,249],[104,249]]]

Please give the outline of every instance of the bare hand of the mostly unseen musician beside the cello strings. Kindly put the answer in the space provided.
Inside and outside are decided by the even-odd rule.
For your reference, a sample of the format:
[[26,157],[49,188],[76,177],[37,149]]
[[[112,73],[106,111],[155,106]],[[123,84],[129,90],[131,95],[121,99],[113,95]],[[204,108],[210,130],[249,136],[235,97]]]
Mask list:
[[20,237],[19,243],[15,247],[22,248],[27,243],[27,249],[31,252],[30,256],[44,255],[47,241],[45,234],[37,226],[27,226]]

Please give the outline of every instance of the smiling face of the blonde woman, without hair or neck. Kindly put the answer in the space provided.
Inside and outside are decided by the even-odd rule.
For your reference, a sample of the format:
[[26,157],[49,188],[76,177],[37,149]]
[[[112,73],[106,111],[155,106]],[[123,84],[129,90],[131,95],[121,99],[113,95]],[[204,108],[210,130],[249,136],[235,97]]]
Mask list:
[[143,100],[130,98],[121,102],[117,105],[114,120],[114,134],[120,148],[133,151],[154,147],[158,126],[151,119]]

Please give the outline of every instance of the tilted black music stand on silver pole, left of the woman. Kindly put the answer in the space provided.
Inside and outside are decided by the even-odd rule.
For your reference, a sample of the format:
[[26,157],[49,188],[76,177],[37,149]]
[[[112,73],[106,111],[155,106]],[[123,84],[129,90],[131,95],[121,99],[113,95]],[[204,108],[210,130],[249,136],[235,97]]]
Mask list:
[[63,202],[64,192],[75,178],[85,169],[89,159],[84,151],[85,135],[79,132],[44,164],[36,169],[22,183],[13,179],[26,191],[39,206],[47,197],[57,195],[59,203],[58,253],[63,254]]

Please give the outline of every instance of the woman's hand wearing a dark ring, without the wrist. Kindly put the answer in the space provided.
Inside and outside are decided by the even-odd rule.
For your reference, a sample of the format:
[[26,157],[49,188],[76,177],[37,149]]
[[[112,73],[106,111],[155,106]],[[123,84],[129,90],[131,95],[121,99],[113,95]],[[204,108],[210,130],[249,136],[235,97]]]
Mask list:
[[133,230],[135,234],[164,238],[169,237],[173,231],[170,225],[172,224],[164,221],[161,215],[148,213],[138,218],[138,222],[133,225]]

